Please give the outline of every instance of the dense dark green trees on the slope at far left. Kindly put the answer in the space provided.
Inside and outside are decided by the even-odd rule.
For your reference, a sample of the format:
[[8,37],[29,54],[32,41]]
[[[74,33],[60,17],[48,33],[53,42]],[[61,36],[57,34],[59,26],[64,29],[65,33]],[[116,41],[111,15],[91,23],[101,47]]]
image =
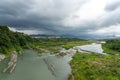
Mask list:
[[0,25],[0,53],[9,55],[12,51],[29,48],[33,39],[28,35],[12,32],[7,26]]

